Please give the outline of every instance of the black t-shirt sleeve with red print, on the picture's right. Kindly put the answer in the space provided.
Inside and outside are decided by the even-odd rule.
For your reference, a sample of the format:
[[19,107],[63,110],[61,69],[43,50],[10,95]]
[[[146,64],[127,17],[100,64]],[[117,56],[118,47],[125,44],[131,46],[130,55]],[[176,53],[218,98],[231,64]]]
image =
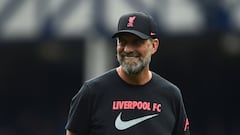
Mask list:
[[177,96],[176,112],[177,122],[174,128],[173,135],[190,135],[189,120],[180,90]]

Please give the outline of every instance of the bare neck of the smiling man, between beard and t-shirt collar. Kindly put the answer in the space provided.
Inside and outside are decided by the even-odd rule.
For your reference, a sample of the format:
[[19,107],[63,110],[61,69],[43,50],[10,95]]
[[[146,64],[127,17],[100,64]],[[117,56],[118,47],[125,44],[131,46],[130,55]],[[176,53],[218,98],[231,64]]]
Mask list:
[[144,85],[148,81],[151,80],[152,78],[152,73],[149,70],[149,67],[145,67],[143,71],[136,75],[129,75],[127,74],[121,66],[117,68],[117,73],[120,76],[121,79],[123,79],[125,82],[128,84],[133,84],[133,85]]

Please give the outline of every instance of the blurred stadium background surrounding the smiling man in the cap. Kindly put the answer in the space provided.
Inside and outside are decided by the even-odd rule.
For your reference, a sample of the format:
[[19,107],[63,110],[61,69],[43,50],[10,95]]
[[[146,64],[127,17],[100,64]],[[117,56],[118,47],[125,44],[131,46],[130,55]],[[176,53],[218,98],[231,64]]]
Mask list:
[[64,135],[83,82],[118,65],[118,18],[151,14],[152,70],[181,90],[192,135],[240,134],[239,0],[0,0],[0,135]]

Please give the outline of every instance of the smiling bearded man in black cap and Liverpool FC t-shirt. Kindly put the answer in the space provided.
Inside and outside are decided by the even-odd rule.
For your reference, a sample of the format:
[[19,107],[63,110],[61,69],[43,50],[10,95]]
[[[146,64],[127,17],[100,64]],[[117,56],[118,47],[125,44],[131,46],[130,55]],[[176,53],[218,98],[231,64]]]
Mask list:
[[150,71],[159,45],[153,19],[123,15],[118,24],[119,67],[86,81],[73,97],[67,135],[189,135],[180,90]]

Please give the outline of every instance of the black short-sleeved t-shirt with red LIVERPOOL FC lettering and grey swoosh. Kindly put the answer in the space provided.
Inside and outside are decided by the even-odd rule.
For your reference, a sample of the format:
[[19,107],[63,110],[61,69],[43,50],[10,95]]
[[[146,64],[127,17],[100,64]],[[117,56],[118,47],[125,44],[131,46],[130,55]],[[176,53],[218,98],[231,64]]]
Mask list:
[[145,85],[113,69],[86,81],[72,98],[66,129],[77,135],[189,135],[180,90],[152,72]]

